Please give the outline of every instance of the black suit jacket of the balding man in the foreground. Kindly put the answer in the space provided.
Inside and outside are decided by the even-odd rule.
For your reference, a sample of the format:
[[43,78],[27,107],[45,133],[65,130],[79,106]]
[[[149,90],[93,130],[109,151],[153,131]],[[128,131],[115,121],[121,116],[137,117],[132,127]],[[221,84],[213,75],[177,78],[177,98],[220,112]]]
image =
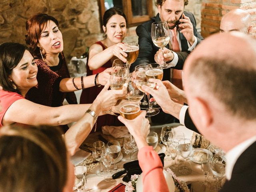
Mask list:
[[256,142],[249,146],[236,161],[230,181],[221,192],[256,191]]

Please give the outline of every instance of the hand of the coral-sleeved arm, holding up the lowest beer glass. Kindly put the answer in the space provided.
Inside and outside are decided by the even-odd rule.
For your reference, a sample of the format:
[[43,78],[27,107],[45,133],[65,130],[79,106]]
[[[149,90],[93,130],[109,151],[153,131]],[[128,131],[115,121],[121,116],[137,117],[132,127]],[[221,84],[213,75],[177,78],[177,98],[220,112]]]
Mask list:
[[120,122],[125,124],[130,134],[132,134],[132,136],[134,137],[138,149],[148,145],[148,143],[146,142],[146,137],[150,132],[150,124],[148,119],[145,118],[145,116],[146,111],[141,111],[140,115],[133,120],[128,120],[122,116],[118,116]]

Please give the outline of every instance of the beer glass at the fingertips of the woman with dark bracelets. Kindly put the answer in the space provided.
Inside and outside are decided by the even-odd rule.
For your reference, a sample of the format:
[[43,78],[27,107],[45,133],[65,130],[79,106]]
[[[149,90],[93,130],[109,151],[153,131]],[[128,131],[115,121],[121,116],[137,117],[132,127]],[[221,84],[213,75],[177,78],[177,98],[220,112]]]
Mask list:
[[128,84],[128,76],[128,68],[115,66],[110,74],[110,88],[114,90],[121,90]]

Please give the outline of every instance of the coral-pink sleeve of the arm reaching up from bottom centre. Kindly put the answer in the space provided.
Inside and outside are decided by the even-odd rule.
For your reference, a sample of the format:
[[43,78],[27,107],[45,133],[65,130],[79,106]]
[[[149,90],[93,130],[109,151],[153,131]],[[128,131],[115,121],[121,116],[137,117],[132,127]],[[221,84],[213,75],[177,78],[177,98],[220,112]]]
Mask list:
[[152,146],[145,146],[138,152],[140,168],[143,172],[144,192],[168,192],[163,174],[163,165]]

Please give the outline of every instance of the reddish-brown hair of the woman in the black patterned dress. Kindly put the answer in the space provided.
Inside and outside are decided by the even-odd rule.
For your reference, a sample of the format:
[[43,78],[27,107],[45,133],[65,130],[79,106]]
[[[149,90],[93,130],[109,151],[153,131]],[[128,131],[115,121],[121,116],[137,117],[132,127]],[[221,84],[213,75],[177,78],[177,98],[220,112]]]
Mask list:
[[56,18],[44,13],[35,14],[26,21],[27,34],[25,35],[25,40],[33,56],[40,56],[40,49],[37,45],[42,30],[44,30],[47,22],[50,20],[59,26],[58,20]]

